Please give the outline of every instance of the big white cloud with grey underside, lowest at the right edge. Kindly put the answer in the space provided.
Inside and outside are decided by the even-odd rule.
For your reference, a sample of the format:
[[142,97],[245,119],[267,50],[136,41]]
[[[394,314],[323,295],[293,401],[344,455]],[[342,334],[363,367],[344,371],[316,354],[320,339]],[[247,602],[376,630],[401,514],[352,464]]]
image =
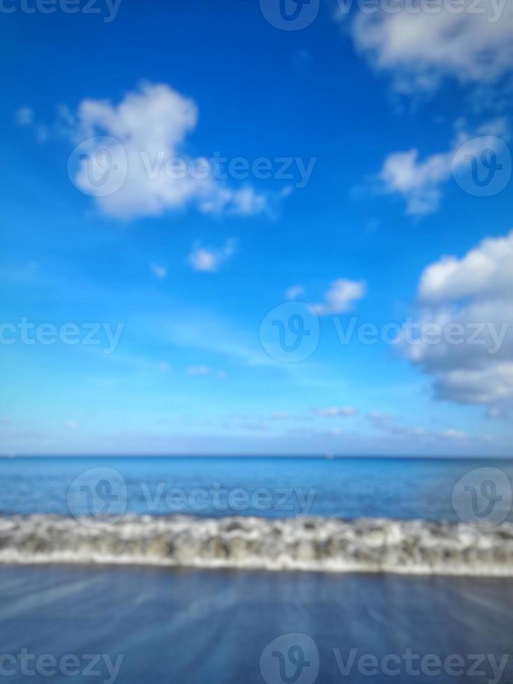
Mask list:
[[512,263],[513,231],[424,270],[419,321],[407,328],[435,325],[444,334],[438,343],[406,342],[405,329],[402,349],[433,376],[438,399],[488,406],[491,415],[513,407]]

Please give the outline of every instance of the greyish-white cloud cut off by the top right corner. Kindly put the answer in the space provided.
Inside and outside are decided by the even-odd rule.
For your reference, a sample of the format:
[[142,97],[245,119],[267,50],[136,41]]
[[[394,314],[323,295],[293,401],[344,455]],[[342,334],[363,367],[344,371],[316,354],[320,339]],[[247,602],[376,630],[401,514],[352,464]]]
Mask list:
[[357,50],[373,68],[392,75],[396,90],[432,91],[446,77],[490,84],[510,72],[513,3],[465,0],[459,12],[442,3],[438,13],[412,13],[411,7],[360,12],[350,25]]

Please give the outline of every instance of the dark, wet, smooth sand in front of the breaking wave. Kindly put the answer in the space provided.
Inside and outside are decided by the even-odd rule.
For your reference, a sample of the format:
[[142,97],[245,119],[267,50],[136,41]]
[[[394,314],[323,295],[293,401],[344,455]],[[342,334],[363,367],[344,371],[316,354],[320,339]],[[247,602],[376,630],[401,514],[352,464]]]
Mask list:
[[[109,655],[123,662],[121,684],[262,684],[260,655],[276,637],[307,634],[315,642],[322,684],[459,682],[485,674],[343,676],[343,661],[406,649],[440,658],[513,649],[513,581],[386,574],[168,570],[151,567],[0,567],[1,653]],[[466,660],[466,667],[470,662]],[[17,666],[18,667],[18,666]],[[82,666],[81,666],[82,667]],[[98,676],[33,676],[8,681],[108,681]],[[280,684],[281,678],[275,681]],[[510,657],[501,683],[513,681]],[[309,684],[308,672],[297,679]],[[273,683],[274,684],[274,683]]]

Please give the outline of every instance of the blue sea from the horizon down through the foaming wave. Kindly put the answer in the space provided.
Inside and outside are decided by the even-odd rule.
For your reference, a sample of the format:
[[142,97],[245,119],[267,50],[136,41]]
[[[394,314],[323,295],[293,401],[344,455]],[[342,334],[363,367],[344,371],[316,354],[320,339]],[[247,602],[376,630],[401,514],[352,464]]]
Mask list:
[[513,576],[511,461],[0,461],[0,563]]

